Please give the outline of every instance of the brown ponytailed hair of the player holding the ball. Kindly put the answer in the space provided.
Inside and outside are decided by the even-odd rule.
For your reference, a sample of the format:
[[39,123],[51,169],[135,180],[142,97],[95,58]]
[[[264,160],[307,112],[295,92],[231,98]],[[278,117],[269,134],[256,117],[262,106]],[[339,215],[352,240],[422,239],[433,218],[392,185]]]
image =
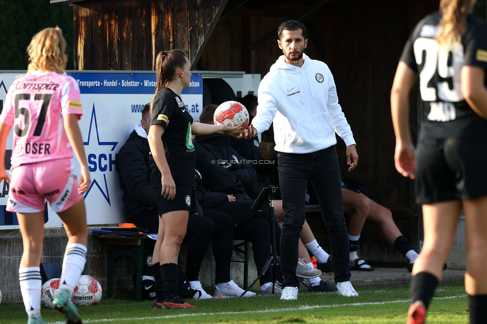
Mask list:
[[151,114],[152,107],[154,106],[154,100],[157,93],[162,88],[167,87],[168,83],[176,78],[176,71],[178,68],[184,69],[184,65],[188,58],[182,50],[173,49],[170,51],[159,52],[156,56],[156,92],[151,101]]

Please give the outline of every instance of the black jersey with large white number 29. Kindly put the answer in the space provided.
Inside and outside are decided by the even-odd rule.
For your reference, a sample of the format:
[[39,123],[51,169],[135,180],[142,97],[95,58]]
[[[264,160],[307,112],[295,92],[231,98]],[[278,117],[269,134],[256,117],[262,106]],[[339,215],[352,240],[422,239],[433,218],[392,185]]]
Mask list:
[[[465,101],[460,79],[464,65],[487,69],[487,23],[469,15],[462,42],[445,49],[435,39],[440,20],[439,11],[421,20],[400,59],[419,74],[423,105],[420,139],[486,139],[487,121]],[[484,84],[487,85],[487,76]]]

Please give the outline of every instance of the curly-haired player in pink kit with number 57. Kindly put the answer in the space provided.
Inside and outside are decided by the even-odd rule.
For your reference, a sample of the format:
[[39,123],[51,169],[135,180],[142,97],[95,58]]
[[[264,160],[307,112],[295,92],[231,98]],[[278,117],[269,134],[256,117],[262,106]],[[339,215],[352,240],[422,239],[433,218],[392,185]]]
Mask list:
[[[76,81],[63,75],[67,43],[58,27],[45,28],[27,47],[27,74],[8,90],[0,115],[0,180],[10,182],[6,209],[17,213],[23,254],[18,270],[28,324],[40,316],[40,259],[44,235],[44,203],[61,217],[68,235],[59,293],[54,308],[67,323],[82,323],[71,294],[86,262],[87,225],[82,193],[91,182],[78,127],[82,115]],[[5,142],[13,132],[11,181],[5,171]],[[74,174],[73,151],[81,165]]]

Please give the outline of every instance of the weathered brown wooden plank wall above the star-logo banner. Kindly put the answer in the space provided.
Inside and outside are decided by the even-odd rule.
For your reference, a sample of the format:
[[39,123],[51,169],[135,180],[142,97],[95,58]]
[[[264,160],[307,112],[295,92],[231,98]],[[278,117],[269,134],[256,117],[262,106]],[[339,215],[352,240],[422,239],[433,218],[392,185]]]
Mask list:
[[[227,0],[87,0],[74,6],[79,70],[153,70],[161,50],[193,64]],[[195,63],[196,64],[196,63]]]

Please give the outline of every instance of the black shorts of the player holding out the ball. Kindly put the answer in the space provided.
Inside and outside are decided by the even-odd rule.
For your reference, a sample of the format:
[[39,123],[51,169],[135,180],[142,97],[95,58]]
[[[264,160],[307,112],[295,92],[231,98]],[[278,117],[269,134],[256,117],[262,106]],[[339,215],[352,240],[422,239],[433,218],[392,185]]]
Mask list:
[[159,216],[177,210],[187,210],[190,214],[196,213],[196,190],[191,185],[176,184],[176,197],[173,200],[161,195],[162,187],[152,188],[156,195]]

